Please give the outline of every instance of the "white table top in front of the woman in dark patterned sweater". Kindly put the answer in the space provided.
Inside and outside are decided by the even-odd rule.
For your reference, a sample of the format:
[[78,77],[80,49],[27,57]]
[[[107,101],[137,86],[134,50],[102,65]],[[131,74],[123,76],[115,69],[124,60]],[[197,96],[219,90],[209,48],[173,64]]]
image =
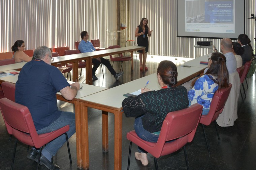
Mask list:
[[[178,81],[182,80],[193,73],[202,70],[197,67],[178,67]],[[137,80],[133,80],[131,82],[80,98],[80,100],[86,100],[98,104],[103,104],[113,108],[122,108],[122,101],[124,100],[126,93],[132,93],[134,91],[139,90],[140,88],[144,88],[146,83],[149,81],[147,88],[151,90],[159,90],[161,87],[157,82],[156,73],[151,74],[146,77],[139,78]]]

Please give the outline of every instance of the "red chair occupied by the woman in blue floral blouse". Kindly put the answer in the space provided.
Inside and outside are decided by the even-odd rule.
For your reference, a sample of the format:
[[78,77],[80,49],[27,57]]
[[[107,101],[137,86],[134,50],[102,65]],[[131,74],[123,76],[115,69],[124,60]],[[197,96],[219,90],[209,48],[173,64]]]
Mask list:
[[222,88],[222,89],[218,89],[213,96],[211,105],[210,105],[210,111],[207,115],[202,115],[200,118],[200,122],[203,126],[203,133],[204,133],[204,138],[205,138],[205,142],[208,148],[208,152],[210,153],[210,148],[206,139],[206,134],[204,131],[204,125],[208,126],[210,125],[212,122],[215,123],[215,128],[216,128],[216,132],[218,135],[218,139],[220,142],[220,136],[219,136],[219,132],[217,129],[217,124],[216,124],[216,119],[219,117],[220,113],[223,111],[223,108],[225,106],[225,103],[228,99],[228,95],[230,93],[232,84],[229,83],[229,86],[227,88]]

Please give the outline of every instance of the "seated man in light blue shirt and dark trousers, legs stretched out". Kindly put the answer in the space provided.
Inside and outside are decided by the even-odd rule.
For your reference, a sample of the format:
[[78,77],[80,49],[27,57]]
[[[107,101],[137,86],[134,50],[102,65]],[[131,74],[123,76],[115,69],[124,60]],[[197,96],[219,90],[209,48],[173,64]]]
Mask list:
[[[95,48],[93,47],[92,43],[90,41],[88,41],[89,39],[89,34],[87,31],[82,31],[81,32],[81,42],[78,45],[78,49],[84,53],[84,52],[92,52],[95,51]],[[110,73],[116,78],[116,80],[118,80],[121,76],[123,76],[124,72],[119,72],[116,73],[116,71],[113,69],[113,67],[110,65],[109,61],[106,60],[103,57],[99,57],[99,58],[93,58],[92,59],[92,63],[94,64],[93,68],[92,68],[92,79],[93,80],[98,80],[98,78],[95,75],[96,70],[98,69],[98,67],[100,66],[100,63],[102,63],[103,65],[105,65],[107,67],[107,69],[110,71]]]

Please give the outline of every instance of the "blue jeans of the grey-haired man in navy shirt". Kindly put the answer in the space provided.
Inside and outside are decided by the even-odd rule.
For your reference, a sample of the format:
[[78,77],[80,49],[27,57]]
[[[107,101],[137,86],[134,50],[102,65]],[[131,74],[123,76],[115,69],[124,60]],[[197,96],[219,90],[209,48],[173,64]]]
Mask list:
[[[67,131],[68,138],[75,133],[75,114],[72,112],[61,112],[60,117],[54,121],[50,126],[45,127],[37,131],[37,134],[49,133],[60,129],[66,125],[69,125],[69,131]],[[46,144],[43,148],[49,152],[52,156],[55,156],[59,148],[66,142],[65,134],[59,136],[53,141]]]

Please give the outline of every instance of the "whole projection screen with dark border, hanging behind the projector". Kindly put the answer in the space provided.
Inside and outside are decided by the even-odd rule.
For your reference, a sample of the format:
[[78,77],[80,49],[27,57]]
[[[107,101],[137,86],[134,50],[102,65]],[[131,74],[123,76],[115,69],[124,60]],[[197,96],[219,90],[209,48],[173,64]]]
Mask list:
[[182,37],[236,39],[244,34],[244,0],[177,0]]

